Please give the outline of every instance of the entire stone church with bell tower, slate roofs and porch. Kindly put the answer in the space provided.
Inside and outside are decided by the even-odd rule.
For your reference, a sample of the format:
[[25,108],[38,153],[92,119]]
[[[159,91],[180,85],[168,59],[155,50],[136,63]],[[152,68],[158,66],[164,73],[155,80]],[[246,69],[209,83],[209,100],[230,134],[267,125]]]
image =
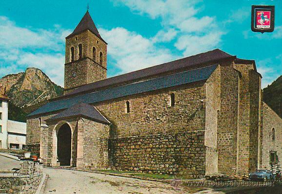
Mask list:
[[64,95],[27,117],[27,147],[46,166],[201,178],[282,157],[282,119],[262,101],[254,60],[215,49],[106,76],[87,11],[66,37]]

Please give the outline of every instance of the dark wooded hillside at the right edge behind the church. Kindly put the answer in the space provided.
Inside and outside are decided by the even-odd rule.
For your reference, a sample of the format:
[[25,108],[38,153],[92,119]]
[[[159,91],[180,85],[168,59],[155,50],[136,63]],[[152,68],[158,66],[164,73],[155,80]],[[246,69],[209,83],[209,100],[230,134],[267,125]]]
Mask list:
[[263,89],[263,101],[282,118],[282,75]]

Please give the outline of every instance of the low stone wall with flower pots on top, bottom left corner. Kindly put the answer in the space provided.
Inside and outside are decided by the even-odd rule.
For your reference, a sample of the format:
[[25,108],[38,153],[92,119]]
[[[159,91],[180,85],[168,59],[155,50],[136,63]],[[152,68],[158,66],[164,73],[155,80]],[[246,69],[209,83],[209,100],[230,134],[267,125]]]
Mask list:
[[20,175],[1,174],[0,189],[8,194],[35,194],[43,176],[42,164],[31,159],[20,160]]

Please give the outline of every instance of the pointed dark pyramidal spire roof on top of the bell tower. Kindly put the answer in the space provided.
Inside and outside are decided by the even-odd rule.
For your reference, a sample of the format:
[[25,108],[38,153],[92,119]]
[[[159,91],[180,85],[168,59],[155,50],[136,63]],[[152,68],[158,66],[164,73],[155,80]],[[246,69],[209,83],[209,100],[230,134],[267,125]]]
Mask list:
[[97,28],[94,24],[94,21],[92,20],[88,10],[85,13],[85,15],[83,16],[83,18],[81,19],[80,23],[77,25],[77,27],[73,31],[73,33],[68,35],[66,38],[73,36],[73,35],[78,35],[78,34],[80,34],[81,32],[83,32],[84,30],[87,30],[87,29],[90,30],[94,35],[99,37],[103,42],[105,42],[103,40],[103,38],[101,37],[100,33],[98,32],[98,30],[97,30]]

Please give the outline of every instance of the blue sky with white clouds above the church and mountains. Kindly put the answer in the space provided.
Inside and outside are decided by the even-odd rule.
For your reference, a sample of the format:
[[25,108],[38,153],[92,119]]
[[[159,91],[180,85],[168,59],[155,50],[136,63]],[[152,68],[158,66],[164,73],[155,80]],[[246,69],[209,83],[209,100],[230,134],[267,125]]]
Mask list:
[[[262,88],[282,74],[282,0],[13,0],[0,6],[0,77],[37,67],[63,86],[64,44],[86,12],[108,43],[108,77],[215,48],[256,60]],[[250,30],[275,5],[275,31]]]

